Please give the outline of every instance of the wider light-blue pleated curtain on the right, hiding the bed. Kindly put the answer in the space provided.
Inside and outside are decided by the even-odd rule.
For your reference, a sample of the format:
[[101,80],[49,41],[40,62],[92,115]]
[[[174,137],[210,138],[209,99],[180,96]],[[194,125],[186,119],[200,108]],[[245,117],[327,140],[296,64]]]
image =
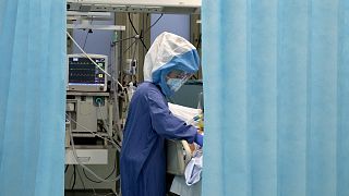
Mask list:
[[349,195],[349,1],[203,0],[203,195]]

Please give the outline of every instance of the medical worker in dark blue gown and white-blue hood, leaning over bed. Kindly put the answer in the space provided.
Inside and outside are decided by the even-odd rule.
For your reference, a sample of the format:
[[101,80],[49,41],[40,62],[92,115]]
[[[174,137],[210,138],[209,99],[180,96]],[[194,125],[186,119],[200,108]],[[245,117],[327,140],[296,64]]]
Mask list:
[[166,100],[197,72],[198,63],[195,47],[170,33],[160,34],[146,53],[145,82],[132,97],[123,132],[122,196],[166,195],[166,138],[203,145],[203,136],[176,118]]

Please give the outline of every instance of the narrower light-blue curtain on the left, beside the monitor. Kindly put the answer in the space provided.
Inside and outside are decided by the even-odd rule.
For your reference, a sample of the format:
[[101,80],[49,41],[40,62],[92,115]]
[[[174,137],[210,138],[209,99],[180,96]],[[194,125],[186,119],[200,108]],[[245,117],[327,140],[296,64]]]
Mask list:
[[62,196],[65,1],[0,0],[0,195]]

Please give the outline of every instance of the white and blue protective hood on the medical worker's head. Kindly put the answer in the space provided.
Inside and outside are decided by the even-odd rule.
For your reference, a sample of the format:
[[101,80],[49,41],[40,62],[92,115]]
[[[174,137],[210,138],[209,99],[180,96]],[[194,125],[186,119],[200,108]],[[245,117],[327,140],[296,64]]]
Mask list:
[[183,37],[164,32],[154,40],[144,59],[144,81],[158,84],[166,96],[173,91],[166,84],[172,70],[194,74],[200,66],[196,48]]

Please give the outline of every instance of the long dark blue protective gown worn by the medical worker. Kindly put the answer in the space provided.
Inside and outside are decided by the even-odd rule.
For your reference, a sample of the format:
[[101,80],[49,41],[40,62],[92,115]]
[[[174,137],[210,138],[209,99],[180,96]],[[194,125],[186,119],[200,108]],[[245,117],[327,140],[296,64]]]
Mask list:
[[165,138],[193,143],[196,128],[168,109],[160,89],[142,83],[132,97],[120,158],[123,196],[166,195]]

